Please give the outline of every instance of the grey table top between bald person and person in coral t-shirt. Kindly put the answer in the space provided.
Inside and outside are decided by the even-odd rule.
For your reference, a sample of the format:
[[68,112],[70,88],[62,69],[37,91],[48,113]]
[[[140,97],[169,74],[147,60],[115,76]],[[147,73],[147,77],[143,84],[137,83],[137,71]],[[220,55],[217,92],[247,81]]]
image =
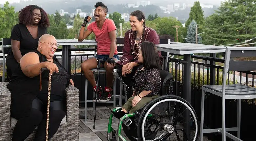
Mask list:
[[78,41],[77,39],[57,39],[59,45],[97,45],[95,40],[83,40]]

